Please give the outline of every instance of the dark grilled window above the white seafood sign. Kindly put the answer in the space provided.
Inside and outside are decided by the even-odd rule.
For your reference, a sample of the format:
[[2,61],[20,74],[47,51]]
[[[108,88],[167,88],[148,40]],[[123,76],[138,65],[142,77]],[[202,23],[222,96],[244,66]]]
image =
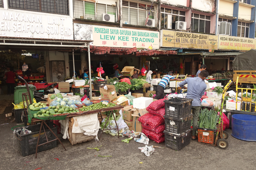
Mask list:
[[9,0],[9,8],[68,15],[68,0]]

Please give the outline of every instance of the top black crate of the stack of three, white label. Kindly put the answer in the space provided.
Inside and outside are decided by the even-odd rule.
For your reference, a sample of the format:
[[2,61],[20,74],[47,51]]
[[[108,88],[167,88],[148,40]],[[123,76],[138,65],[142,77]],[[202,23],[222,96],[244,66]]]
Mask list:
[[169,119],[180,119],[191,114],[193,99],[174,98],[164,100],[165,103],[165,116]]

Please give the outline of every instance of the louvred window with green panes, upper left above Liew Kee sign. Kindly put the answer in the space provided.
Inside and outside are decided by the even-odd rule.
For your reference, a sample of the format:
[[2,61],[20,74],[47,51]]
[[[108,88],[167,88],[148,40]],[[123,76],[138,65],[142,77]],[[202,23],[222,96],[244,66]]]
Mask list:
[[[97,12],[97,15],[95,15],[95,12]],[[115,15],[116,20],[116,6],[73,0],[73,14],[74,18],[84,16],[84,19],[92,18],[92,20],[97,19],[98,21],[102,20],[102,14],[111,14]]]

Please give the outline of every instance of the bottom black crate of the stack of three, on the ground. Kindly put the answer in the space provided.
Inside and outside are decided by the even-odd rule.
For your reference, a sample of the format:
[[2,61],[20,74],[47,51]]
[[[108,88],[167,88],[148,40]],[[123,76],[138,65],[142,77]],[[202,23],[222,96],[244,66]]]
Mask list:
[[191,129],[181,135],[164,131],[165,146],[180,151],[187,146],[191,140]]

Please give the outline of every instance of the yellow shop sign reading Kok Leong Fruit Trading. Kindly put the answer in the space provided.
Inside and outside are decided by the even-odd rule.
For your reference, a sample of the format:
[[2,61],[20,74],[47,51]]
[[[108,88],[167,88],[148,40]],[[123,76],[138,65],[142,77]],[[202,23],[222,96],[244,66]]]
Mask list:
[[218,49],[218,36],[161,30],[161,47]]

